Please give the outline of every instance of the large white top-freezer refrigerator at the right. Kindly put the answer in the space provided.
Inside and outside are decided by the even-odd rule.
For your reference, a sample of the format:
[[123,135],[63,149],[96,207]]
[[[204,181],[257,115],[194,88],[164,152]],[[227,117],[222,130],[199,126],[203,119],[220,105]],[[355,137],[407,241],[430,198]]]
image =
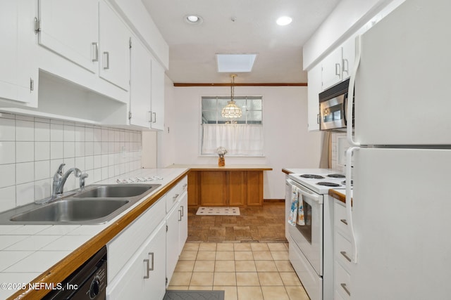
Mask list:
[[451,299],[450,13],[449,0],[406,0],[357,37],[352,300]]

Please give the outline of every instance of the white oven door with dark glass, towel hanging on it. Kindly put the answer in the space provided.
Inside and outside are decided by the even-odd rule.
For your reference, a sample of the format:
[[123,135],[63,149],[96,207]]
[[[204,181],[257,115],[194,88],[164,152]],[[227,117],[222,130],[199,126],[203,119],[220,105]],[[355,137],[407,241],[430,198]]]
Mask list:
[[304,223],[289,226],[290,237],[318,275],[323,275],[323,195],[314,193],[304,186],[287,179],[289,185],[299,189],[299,203],[304,207]]

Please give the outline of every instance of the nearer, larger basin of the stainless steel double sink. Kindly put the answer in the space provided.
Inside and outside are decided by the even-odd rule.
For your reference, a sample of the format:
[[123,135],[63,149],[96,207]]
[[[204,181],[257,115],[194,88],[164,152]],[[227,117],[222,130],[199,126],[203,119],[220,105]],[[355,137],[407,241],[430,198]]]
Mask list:
[[109,199],[64,199],[49,203],[37,209],[26,211],[11,218],[11,221],[27,222],[84,222],[108,216],[116,209],[120,209],[129,200]]

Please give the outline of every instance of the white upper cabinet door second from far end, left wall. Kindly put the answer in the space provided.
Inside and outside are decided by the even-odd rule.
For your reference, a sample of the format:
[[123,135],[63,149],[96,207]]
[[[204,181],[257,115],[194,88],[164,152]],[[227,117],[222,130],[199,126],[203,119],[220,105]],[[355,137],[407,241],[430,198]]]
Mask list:
[[149,128],[151,56],[140,40],[134,37],[132,37],[130,61],[130,125]]

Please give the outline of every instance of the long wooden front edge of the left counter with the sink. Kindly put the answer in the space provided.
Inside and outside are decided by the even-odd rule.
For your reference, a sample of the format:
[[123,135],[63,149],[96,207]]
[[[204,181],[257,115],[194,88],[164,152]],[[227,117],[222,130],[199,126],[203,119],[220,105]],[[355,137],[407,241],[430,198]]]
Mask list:
[[[140,216],[144,211],[151,207],[159,198],[161,198],[168,190],[180,181],[185,175],[187,175],[189,169],[180,174],[168,183],[164,188],[158,190],[156,193],[149,196],[146,200],[142,200],[135,208],[130,210],[128,214],[123,215],[117,221],[111,223],[110,226],[102,230],[99,234],[92,237],[90,240],[82,244],[80,247],[71,252],[68,256],[58,261],[58,263],[51,266],[48,270],[44,271],[37,278],[30,283],[44,284],[44,283],[59,283],[63,282],[70,274],[72,274],[78,267],[85,263],[92,255],[96,254],[101,247],[104,247],[107,242],[116,237],[118,233],[127,227],[132,221]],[[47,289],[21,289],[7,300],[13,299],[41,299],[48,294],[50,290]]]

